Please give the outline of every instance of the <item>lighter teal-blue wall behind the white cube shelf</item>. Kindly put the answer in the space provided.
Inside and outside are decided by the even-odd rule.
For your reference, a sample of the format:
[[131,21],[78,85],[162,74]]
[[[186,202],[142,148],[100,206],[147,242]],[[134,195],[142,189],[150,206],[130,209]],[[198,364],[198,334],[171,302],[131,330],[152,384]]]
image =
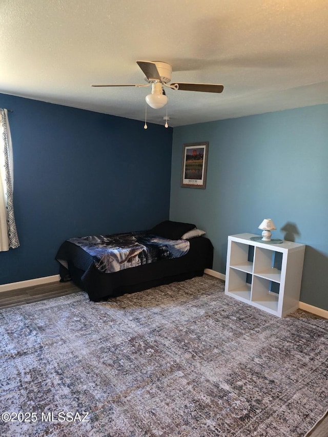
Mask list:
[[[183,143],[209,141],[206,190],[180,188]],[[272,218],[306,244],[302,302],[328,310],[328,105],[174,128],[170,218],[195,223],[226,273],[228,235]]]

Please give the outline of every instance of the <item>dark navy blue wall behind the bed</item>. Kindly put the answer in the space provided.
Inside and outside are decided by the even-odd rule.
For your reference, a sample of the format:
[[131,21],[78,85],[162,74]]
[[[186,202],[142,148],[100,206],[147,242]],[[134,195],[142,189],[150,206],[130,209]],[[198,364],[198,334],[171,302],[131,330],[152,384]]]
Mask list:
[[173,129],[0,94],[14,153],[20,247],[0,284],[58,274],[67,238],[144,230],[169,218]]

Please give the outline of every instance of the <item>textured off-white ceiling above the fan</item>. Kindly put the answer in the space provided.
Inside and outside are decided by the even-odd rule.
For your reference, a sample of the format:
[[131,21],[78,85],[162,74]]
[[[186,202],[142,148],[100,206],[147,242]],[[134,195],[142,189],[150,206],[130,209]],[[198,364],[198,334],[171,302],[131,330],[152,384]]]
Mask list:
[[149,88],[90,85],[144,83],[135,61],[160,60],[224,85],[168,90],[170,126],[326,103],[327,23],[326,0],[1,0],[0,92],[144,120]]

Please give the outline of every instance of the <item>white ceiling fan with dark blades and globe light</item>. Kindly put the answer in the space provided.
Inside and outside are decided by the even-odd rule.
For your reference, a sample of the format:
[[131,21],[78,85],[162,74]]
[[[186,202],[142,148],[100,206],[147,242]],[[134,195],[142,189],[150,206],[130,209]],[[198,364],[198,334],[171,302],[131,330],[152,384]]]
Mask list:
[[164,87],[172,90],[200,91],[205,93],[221,93],[223,85],[217,84],[186,84],[183,82],[171,82],[172,66],[161,61],[137,60],[137,64],[145,74],[147,85],[123,84],[123,85],[91,85],[92,87],[152,87],[151,94],[146,96],[146,102],[154,109],[165,106],[168,102]]

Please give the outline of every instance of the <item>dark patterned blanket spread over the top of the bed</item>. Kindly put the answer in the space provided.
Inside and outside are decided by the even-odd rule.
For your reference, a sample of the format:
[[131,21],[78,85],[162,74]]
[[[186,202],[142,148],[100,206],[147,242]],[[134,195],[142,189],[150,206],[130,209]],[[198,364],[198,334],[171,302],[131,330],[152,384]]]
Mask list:
[[103,273],[178,258],[187,254],[190,246],[188,240],[168,240],[146,232],[78,237],[68,241],[90,254]]

